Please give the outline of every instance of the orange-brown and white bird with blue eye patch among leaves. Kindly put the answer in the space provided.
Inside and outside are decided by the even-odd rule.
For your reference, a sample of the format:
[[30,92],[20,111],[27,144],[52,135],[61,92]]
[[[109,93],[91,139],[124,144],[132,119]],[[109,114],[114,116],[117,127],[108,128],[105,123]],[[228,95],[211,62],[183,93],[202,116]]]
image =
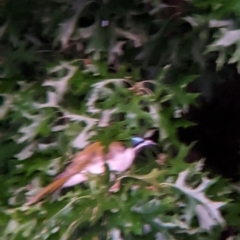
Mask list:
[[26,205],[32,205],[41,200],[45,195],[61,188],[71,187],[87,181],[88,174],[102,174],[105,164],[111,172],[121,173],[126,171],[134,162],[137,154],[145,147],[156,145],[149,139],[133,136],[131,147],[126,147],[121,141],[112,142],[108,150],[101,142],[94,142],[84,150],[77,153],[66,169],[56,176],[55,180],[44,187],[35,196],[30,197]]

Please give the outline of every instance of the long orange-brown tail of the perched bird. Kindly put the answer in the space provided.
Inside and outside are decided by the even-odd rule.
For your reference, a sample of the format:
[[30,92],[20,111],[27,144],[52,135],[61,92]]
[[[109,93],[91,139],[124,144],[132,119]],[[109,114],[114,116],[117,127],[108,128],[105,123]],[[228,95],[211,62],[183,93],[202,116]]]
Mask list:
[[37,195],[31,197],[28,202],[26,203],[27,206],[32,205],[36,202],[38,202],[42,197],[44,197],[46,194],[52,193],[59,189],[67,180],[69,176],[59,178],[55,180],[54,182],[50,183],[48,186],[43,188]]

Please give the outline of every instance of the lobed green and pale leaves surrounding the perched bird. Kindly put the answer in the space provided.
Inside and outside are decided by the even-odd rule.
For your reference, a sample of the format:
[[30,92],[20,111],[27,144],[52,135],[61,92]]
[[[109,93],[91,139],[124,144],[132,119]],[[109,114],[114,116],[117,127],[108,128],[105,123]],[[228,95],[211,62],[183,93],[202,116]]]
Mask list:
[[[198,96],[189,84],[211,96],[221,73],[210,69],[239,66],[231,2],[190,1],[181,17],[179,5],[150,0],[1,3],[1,239],[219,239],[239,229],[237,186],[184,163],[189,147],[176,135],[192,124],[181,118]],[[126,87],[144,74],[153,94]],[[151,127],[169,154],[163,165],[139,156],[115,193],[106,173],[24,205],[89,142]]]

